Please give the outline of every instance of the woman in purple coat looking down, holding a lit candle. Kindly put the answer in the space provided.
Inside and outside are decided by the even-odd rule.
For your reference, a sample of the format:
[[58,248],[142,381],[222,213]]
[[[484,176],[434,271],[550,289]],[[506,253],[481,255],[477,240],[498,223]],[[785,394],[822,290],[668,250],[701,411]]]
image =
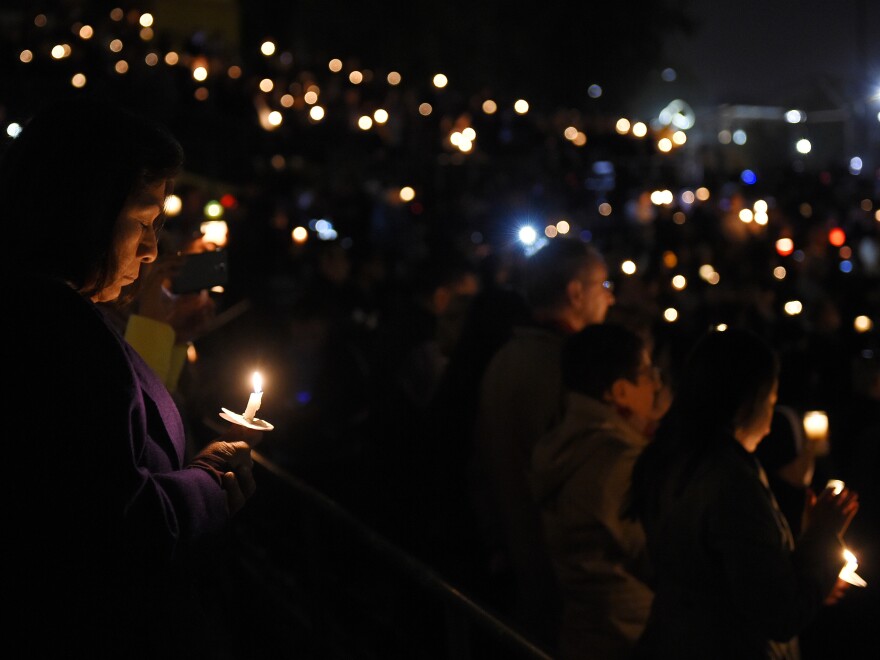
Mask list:
[[82,95],[0,156],[4,629],[28,654],[222,656],[199,567],[255,490],[258,434],[187,460],[171,395],[102,308],[156,260],[182,159],[163,126]]

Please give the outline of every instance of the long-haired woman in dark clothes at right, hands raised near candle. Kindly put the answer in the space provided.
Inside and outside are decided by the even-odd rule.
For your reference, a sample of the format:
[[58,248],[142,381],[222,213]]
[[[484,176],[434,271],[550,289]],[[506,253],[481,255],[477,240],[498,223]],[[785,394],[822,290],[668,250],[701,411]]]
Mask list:
[[636,461],[655,598],[639,658],[799,658],[798,634],[842,593],[854,492],[811,496],[795,542],[754,451],[770,430],[774,351],[747,331],[692,349],[669,413]]

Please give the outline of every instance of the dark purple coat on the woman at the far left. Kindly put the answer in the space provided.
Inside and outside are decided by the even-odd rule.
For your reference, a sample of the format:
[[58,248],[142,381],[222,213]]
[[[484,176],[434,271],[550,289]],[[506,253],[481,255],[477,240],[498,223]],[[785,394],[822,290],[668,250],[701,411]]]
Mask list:
[[96,305],[54,281],[3,288],[4,627],[28,648],[78,642],[89,656],[180,648],[225,494],[182,464],[173,399]]

